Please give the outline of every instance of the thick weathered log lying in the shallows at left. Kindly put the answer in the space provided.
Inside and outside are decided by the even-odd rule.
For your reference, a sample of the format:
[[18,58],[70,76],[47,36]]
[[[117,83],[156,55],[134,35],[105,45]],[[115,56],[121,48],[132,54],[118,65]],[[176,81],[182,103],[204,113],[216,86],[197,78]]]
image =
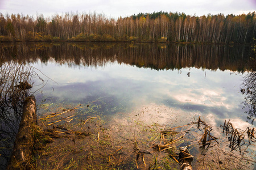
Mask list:
[[24,101],[22,120],[7,170],[30,169],[34,143],[33,127],[37,124],[35,101],[34,95],[27,97]]

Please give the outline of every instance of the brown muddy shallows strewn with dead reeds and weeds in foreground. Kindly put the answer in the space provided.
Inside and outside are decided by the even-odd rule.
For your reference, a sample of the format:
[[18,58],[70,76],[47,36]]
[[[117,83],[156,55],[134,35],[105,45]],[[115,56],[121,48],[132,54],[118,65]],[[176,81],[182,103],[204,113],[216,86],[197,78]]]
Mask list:
[[193,124],[196,113],[150,104],[131,113],[82,120],[76,118],[80,107],[89,108],[61,108],[40,117],[35,169],[180,169],[180,147],[188,148],[193,169],[254,168],[253,150],[231,152],[222,128],[208,120],[205,124],[218,139],[204,146],[204,130]]

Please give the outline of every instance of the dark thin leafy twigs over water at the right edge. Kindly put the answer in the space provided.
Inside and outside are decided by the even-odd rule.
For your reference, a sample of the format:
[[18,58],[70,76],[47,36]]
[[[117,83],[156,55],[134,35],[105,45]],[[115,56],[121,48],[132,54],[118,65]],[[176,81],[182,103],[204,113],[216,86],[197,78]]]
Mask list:
[[243,108],[249,108],[245,113],[248,114],[247,119],[253,124],[256,118],[256,72],[251,72],[243,78],[242,94],[245,95],[245,101],[242,102]]

